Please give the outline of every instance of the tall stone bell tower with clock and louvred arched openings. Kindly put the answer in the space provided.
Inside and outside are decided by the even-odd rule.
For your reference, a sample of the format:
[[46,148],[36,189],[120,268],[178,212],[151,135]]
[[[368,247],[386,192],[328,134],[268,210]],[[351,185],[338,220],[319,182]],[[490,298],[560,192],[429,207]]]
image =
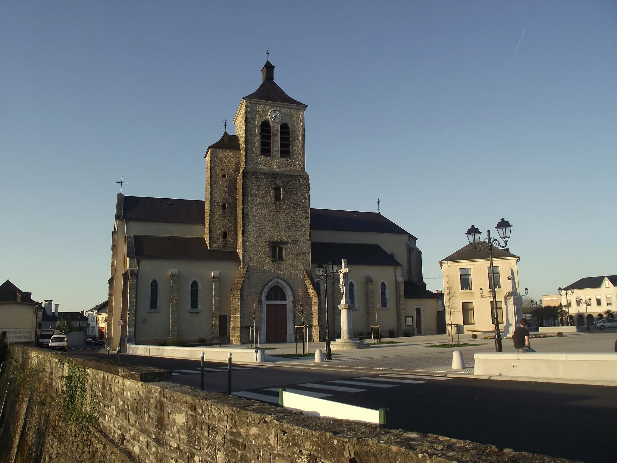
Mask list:
[[[233,120],[241,149],[236,243],[242,262],[231,309],[230,337],[234,343],[247,342],[248,327],[252,326],[247,307],[255,300],[264,301],[264,288],[273,280],[280,281],[278,286],[287,293],[287,341],[293,341],[293,325],[297,324],[294,301],[302,297],[312,304],[314,294],[310,293],[314,290],[307,277],[311,262],[305,109],[305,104],[289,97],[275,83],[274,66],[267,61],[262,84],[242,98]],[[267,310],[265,305],[262,312]],[[261,336],[266,341],[266,331],[273,328],[265,326],[264,313],[261,318]]]

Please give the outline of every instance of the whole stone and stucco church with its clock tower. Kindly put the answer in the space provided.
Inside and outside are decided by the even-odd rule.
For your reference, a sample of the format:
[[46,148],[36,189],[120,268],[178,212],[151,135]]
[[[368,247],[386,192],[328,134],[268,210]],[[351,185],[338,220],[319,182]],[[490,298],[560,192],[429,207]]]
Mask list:
[[107,346],[294,342],[299,326],[323,341],[326,312],[334,340],[341,289],[337,278],[318,281],[315,267],[342,259],[355,335],[445,333],[415,236],[379,212],[310,207],[306,109],[268,60],[241,99],[236,135],[225,131],[205,152],[203,201],[118,194]]

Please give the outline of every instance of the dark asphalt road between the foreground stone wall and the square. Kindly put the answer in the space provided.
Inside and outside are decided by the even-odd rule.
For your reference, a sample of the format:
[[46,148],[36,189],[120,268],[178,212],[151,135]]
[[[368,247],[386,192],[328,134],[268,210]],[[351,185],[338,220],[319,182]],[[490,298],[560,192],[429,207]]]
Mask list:
[[[172,382],[199,388],[198,361],[125,354],[121,360],[172,370]],[[225,365],[206,367],[205,389],[226,392]],[[613,387],[376,373],[234,365],[233,393],[277,403],[278,388],[285,387],[340,403],[388,407],[394,428],[589,463],[617,461]]]

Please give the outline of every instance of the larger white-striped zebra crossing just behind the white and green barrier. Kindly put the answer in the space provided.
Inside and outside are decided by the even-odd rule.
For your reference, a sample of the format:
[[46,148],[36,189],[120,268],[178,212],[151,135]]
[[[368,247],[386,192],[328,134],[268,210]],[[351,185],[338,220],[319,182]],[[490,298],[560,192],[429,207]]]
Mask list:
[[[452,378],[440,376],[391,373],[344,380],[329,380],[318,383],[299,383],[286,387],[285,390],[309,397],[325,398],[333,397],[336,394],[355,394],[370,390],[384,390],[386,388],[395,388],[403,385],[418,385],[429,383],[431,381],[444,381],[451,379]],[[261,388],[250,391],[236,391],[232,394],[234,396],[243,397],[246,399],[278,404],[278,390],[279,388]]]

